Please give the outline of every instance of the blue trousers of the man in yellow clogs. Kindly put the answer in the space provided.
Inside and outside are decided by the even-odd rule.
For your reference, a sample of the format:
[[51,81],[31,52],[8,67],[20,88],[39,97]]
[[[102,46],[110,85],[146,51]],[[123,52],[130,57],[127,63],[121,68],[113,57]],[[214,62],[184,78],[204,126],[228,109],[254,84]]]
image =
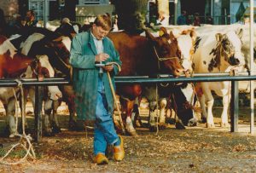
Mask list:
[[119,141],[113,126],[112,114],[108,111],[106,96],[97,92],[96,125],[94,130],[94,154],[105,153],[107,144]]

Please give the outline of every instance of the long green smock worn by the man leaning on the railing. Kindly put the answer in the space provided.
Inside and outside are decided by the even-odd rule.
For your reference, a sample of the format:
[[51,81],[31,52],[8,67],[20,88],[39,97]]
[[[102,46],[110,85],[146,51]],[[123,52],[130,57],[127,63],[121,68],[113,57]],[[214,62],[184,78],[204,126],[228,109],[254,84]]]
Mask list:
[[[99,67],[96,67],[95,56],[97,55],[96,45],[91,32],[81,32],[73,38],[71,44],[70,63],[73,66],[73,88],[76,94],[75,104],[79,120],[91,121],[96,118],[96,95],[99,78]],[[113,46],[113,42],[104,37],[102,40],[104,51],[108,54],[108,62],[119,61],[119,53]],[[113,71],[110,72],[112,84],[115,89],[113,76],[118,73],[118,67],[113,65]],[[107,72],[102,74],[102,83],[105,89],[105,95],[108,101],[108,112],[113,113],[113,95],[108,82]]]

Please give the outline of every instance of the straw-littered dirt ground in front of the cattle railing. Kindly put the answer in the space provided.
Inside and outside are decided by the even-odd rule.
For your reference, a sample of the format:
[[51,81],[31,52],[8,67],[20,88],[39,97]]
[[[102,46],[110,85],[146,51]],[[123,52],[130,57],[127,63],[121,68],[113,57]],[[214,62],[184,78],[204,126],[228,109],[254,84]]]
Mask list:
[[[219,113],[215,107],[214,112]],[[37,159],[22,164],[0,164],[0,172],[256,172],[256,137],[249,135],[249,110],[240,109],[239,133],[230,128],[206,129],[205,124],[176,130],[170,124],[158,134],[146,128],[137,129],[137,138],[124,136],[125,159],[111,160],[107,165],[92,162],[93,131],[67,130],[68,116],[61,110],[61,134],[43,137],[33,146]],[[0,135],[3,136],[3,113],[0,113]],[[33,124],[33,117],[28,118]],[[17,141],[0,137],[0,143]],[[3,149],[1,157],[3,157]],[[9,162],[19,156],[13,155]],[[19,159],[19,158],[18,158]]]

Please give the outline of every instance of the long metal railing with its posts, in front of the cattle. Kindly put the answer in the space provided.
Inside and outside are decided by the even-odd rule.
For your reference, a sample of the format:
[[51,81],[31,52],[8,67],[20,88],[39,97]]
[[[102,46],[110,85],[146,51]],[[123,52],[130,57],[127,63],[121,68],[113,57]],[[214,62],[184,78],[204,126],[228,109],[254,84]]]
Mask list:
[[[217,82],[217,81],[231,81],[231,101],[230,101],[230,119],[231,132],[238,132],[238,112],[239,112],[239,90],[238,81],[256,80],[256,75],[246,75],[247,73],[239,73],[237,76],[229,76],[228,73],[201,73],[195,74],[192,78],[184,76],[180,78],[172,78],[172,75],[159,75],[158,78],[149,78],[148,76],[126,76],[115,77],[116,84],[161,84],[161,83],[175,83],[175,82]],[[44,81],[38,81],[36,78],[18,79],[24,86],[36,87],[36,103],[35,103],[35,127],[36,127],[36,141],[42,140],[42,115],[39,104],[39,86],[72,84],[65,78],[44,78]],[[18,83],[15,79],[0,79],[0,87],[15,87]],[[252,124],[251,124],[252,125]]]

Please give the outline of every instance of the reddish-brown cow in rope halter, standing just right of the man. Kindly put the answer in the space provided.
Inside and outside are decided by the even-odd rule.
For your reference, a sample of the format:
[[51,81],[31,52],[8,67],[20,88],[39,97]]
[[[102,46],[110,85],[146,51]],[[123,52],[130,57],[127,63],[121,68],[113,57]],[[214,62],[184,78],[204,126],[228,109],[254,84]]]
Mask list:
[[[178,77],[184,72],[178,58],[180,50],[176,38],[172,32],[167,33],[164,27],[160,28],[160,32],[163,33],[160,37],[154,37],[148,31],[146,37],[126,32],[108,34],[122,61],[119,76],[155,76],[161,71]],[[122,109],[125,112],[125,127],[132,136],[137,136],[137,133],[131,123],[131,112],[135,99],[141,96],[142,91],[141,84],[117,84],[117,94],[120,95]]]

